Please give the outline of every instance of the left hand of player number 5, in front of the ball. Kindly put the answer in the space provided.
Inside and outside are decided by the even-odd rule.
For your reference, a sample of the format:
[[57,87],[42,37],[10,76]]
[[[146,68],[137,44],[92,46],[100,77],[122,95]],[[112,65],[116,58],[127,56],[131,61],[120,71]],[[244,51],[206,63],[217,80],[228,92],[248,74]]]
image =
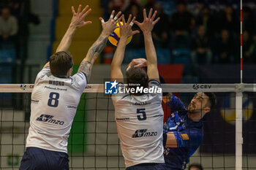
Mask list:
[[[125,22],[124,15],[121,16],[121,20],[123,22],[123,25],[121,25],[120,21],[118,22],[119,28],[120,28],[120,37],[126,37],[133,36],[134,34],[140,33],[140,31],[132,31],[132,25],[135,22],[135,17],[132,18],[132,15],[129,15],[129,18],[127,20],[127,23]],[[132,21],[131,21],[132,20]]]

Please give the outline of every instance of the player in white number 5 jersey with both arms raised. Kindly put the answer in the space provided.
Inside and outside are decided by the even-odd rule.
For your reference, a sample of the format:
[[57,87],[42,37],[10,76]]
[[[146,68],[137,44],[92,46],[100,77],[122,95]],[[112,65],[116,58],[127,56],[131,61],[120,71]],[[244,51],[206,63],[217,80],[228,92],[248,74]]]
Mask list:
[[[157,54],[154,48],[151,31],[157,20],[157,11],[152,15],[150,9],[148,17],[143,10],[143,23],[138,23],[129,15],[124,26],[120,27],[120,40],[111,64],[111,80],[117,80],[118,94],[113,95],[116,126],[121,141],[121,150],[127,170],[165,169],[162,144],[162,125],[164,112],[162,110],[161,93],[122,93],[127,88],[161,88],[157,70]],[[131,22],[132,19],[132,22]],[[122,16],[125,23],[124,16]],[[132,31],[132,23],[136,23],[144,34],[147,73],[140,67],[131,66],[127,69],[127,87],[122,87],[124,77],[121,63],[129,36],[138,33]],[[113,84],[114,85],[114,84]],[[136,85],[138,85],[136,87]]]

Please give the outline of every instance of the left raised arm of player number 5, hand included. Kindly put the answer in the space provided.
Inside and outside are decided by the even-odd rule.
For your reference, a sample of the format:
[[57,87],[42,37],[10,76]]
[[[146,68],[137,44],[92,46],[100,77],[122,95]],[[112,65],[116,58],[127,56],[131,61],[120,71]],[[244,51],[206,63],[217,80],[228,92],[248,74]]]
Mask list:
[[129,36],[139,33],[139,31],[132,31],[132,24],[135,21],[135,17],[132,19],[132,15],[129,15],[127,23],[125,23],[124,15],[122,15],[121,19],[123,26],[119,23],[120,39],[111,63],[111,80],[117,80],[118,82],[124,82],[124,76],[121,72],[121,63],[124,60],[124,51],[127,45],[127,39]]

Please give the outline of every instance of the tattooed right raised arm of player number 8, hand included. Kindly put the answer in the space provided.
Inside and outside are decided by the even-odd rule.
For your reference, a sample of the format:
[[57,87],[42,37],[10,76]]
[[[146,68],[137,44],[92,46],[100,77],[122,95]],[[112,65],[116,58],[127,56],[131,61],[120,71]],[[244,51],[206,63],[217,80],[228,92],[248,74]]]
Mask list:
[[116,26],[118,17],[121,15],[121,12],[118,12],[115,18],[113,18],[115,11],[112,11],[110,18],[105,22],[102,18],[99,18],[102,22],[102,33],[99,35],[99,38],[94,42],[90,47],[86,58],[80,63],[78,72],[84,72],[86,74],[87,80],[90,80],[91,69],[94,64],[94,61],[98,58],[99,54],[102,52],[103,48],[107,44],[108,36],[117,28]]

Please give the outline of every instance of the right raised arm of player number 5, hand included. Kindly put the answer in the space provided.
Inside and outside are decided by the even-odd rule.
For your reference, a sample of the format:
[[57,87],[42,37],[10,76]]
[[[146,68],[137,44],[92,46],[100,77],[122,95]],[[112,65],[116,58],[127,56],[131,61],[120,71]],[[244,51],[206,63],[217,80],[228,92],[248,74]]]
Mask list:
[[154,20],[157,15],[157,11],[154,12],[152,15],[153,9],[150,9],[148,17],[146,16],[146,9],[143,10],[144,20],[143,23],[139,23],[135,21],[140,29],[143,31],[144,35],[144,42],[145,42],[145,51],[146,51],[146,58],[147,58],[147,66],[148,66],[148,80],[157,80],[159,81],[159,74],[157,69],[157,53],[154,48],[154,43],[152,39],[151,31],[154,28],[154,25],[158,22],[160,18]]

